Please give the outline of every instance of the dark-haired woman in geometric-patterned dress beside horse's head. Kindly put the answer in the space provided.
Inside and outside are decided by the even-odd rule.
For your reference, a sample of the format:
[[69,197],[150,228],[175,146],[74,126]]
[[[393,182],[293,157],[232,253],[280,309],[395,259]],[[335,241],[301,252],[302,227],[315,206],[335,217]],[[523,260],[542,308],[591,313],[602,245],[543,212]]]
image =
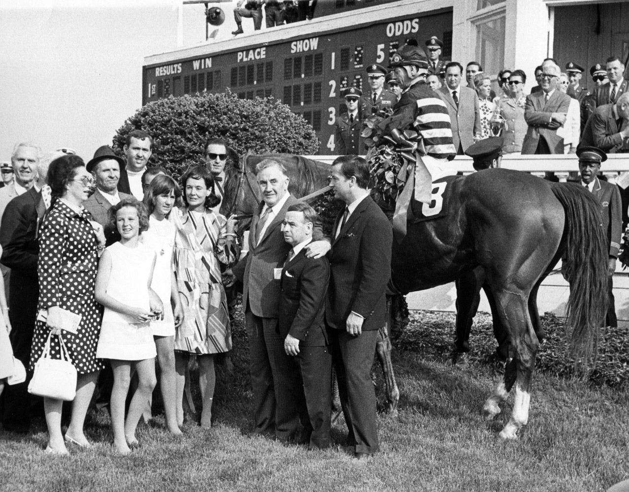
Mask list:
[[189,354],[199,364],[203,411],[201,427],[211,427],[214,396],[214,354],[231,350],[230,317],[221,265],[235,260],[226,237],[234,221],[211,210],[218,197],[214,179],[204,166],[192,167],[181,179],[186,208],[175,216],[175,279],[184,308],[184,322],[175,336],[177,419],[183,420],[182,397]]

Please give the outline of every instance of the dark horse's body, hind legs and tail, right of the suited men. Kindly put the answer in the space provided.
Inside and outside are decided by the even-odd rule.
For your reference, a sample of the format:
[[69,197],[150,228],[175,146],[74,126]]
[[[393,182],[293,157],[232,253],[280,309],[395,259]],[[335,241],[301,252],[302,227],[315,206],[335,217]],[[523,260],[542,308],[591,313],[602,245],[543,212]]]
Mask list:
[[500,432],[513,439],[528,421],[538,349],[535,294],[562,255],[571,286],[571,344],[587,353],[603,322],[608,252],[600,207],[575,184],[487,169],[452,181],[447,208],[445,220],[409,223],[403,240],[394,241],[392,282],[406,294],[482,272],[511,340],[504,380],[483,411],[498,415],[515,384],[513,412]]

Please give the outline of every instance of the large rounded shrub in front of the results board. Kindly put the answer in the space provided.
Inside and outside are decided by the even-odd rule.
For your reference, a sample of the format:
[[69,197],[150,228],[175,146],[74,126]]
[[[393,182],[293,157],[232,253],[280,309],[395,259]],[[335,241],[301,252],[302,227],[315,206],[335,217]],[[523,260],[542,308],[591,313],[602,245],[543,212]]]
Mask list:
[[223,138],[239,155],[316,154],[315,131],[286,104],[272,98],[238,99],[231,91],[165,98],[148,103],[118,128],[113,149],[122,155],[131,130],[153,137],[149,165],[160,165],[175,179],[189,165],[201,164],[208,137]]

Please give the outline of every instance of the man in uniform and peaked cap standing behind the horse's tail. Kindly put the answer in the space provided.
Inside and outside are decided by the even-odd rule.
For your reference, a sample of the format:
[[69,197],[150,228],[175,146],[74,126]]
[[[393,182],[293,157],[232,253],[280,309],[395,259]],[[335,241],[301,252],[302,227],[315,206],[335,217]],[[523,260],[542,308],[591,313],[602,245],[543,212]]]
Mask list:
[[596,147],[580,147],[577,149],[579,156],[579,172],[581,173],[581,186],[587,187],[601,204],[601,214],[603,216],[603,230],[607,235],[610,245],[610,255],[608,260],[608,283],[607,291],[610,299],[605,324],[608,327],[618,327],[616,320],[616,310],[614,305],[613,280],[612,276],[616,270],[616,257],[620,249],[622,236],[622,219],[620,192],[618,186],[600,181],[596,174],[601,168],[601,162],[607,159],[603,150]]

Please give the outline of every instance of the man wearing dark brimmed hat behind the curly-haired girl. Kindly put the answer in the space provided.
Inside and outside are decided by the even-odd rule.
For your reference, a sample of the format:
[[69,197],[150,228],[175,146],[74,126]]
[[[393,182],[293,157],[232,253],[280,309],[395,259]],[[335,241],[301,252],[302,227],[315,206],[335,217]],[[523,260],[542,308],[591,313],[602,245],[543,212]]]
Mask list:
[[96,191],[83,203],[83,206],[92,214],[94,220],[103,226],[106,246],[120,241],[116,226],[109,222],[109,209],[121,199],[131,198],[130,194],[118,191],[120,169],[124,165],[125,161],[114,154],[108,145],[97,148],[94,158],[86,165],[87,171],[92,173],[96,181]]

